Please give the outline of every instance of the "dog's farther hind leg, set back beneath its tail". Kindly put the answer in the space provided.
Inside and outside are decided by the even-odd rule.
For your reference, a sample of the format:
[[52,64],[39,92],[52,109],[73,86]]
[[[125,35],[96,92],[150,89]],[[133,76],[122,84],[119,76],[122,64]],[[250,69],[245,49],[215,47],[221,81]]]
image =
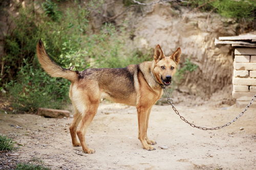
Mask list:
[[[74,106],[74,105],[73,105]],[[77,126],[82,118],[81,113],[77,110],[77,108],[74,106],[74,119],[73,122],[71,124],[71,126],[69,127],[70,130],[70,134],[71,134],[71,139],[72,139],[72,144],[74,147],[79,147],[81,144],[77,141],[76,139],[76,129]]]

